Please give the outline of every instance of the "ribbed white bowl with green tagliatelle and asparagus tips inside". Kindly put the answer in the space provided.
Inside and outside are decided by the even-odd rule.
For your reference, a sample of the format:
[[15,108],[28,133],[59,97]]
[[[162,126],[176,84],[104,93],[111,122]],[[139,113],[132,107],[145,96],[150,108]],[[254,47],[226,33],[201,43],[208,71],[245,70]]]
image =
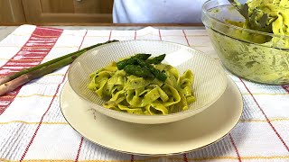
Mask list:
[[219,62],[196,49],[157,40],[90,49],[70,65],[68,78],[92,109],[143,124],[191,117],[215,103],[227,87]]

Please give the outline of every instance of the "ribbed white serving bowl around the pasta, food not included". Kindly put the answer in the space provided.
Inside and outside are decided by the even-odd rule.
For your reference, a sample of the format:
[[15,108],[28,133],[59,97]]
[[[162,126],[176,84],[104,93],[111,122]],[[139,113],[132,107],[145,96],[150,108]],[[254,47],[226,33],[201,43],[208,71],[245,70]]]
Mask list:
[[[186,69],[191,69],[194,75],[192,89],[196,102],[191,103],[186,111],[167,115],[131,114],[104,108],[102,104],[106,101],[100,99],[87,87],[89,74],[107,66],[112,61],[127,58],[136,53],[150,53],[152,57],[165,53],[163,63],[176,67],[180,74]],[[219,62],[213,58],[181,44],[157,40],[125,40],[90,49],[73,61],[69,68],[68,78],[73,91],[91,108],[117,120],[143,124],[179,121],[191,117],[215,103],[227,86],[226,74]]]

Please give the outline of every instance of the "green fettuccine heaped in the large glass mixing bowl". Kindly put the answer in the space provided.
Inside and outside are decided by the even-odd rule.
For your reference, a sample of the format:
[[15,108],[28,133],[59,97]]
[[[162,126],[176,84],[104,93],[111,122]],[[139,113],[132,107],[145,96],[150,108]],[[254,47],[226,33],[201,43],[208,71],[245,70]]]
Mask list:
[[[288,0],[248,0],[248,15],[251,16],[254,11],[257,11],[256,21],[266,14],[269,18],[266,21],[266,27],[259,29],[252,25],[250,21],[234,22],[226,20],[226,23],[243,27],[256,31],[266,31],[276,35],[289,36],[289,1]],[[270,41],[278,48],[289,48],[289,40],[284,38],[273,37],[268,40],[268,37],[263,35],[251,35],[247,31],[237,31],[235,35],[244,40],[253,40],[257,43],[265,43]]]

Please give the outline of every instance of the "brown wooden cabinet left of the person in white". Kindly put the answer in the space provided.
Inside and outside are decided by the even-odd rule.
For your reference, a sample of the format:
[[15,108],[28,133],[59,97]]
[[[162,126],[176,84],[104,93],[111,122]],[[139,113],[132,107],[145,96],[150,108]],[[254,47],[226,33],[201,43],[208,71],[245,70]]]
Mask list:
[[[112,23],[113,0],[1,0],[2,23],[14,21],[10,13],[22,11],[24,23]],[[3,2],[5,2],[4,5]],[[14,2],[11,5],[11,2]],[[15,7],[15,4],[19,7]],[[6,6],[6,7],[5,7]],[[9,14],[10,14],[9,13]],[[9,22],[10,21],[10,22]]]

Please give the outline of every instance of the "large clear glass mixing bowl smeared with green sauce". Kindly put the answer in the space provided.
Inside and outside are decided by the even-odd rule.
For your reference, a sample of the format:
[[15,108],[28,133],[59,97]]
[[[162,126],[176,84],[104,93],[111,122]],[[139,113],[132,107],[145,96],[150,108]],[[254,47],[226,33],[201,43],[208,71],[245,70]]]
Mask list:
[[201,19],[228,71],[256,83],[289,84],[289,49],[285,48],[288,48],[288,36],[248,30],[227,23],[245,21],[228,0],[204,3]]

